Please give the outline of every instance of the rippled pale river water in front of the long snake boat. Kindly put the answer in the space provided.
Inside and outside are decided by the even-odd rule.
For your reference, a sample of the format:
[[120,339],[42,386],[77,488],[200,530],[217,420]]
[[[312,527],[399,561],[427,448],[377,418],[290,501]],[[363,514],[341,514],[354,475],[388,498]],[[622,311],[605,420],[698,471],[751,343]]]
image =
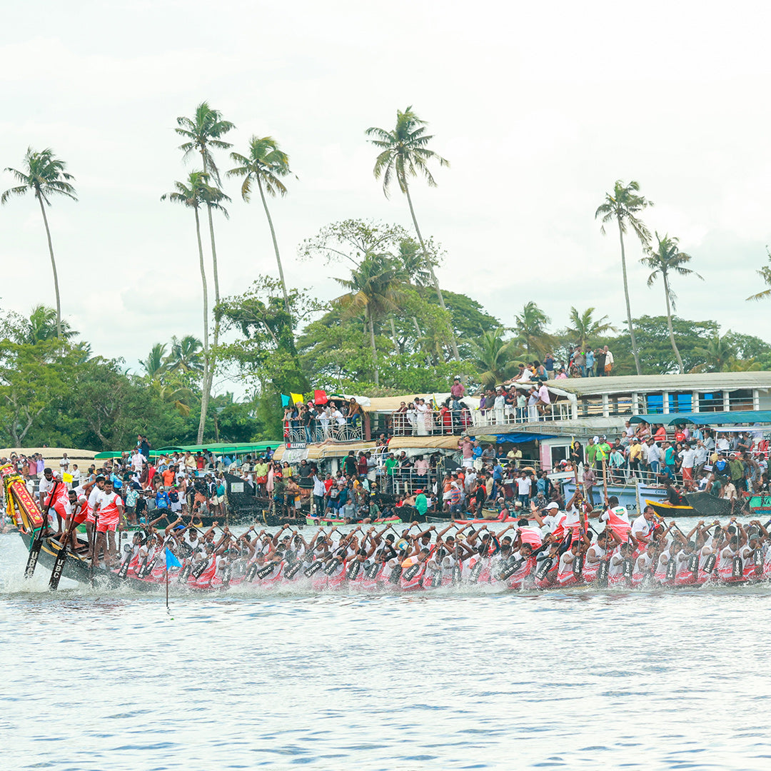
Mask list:
[[0,536],[2,769],[769,769],[771,588],[96,593]]

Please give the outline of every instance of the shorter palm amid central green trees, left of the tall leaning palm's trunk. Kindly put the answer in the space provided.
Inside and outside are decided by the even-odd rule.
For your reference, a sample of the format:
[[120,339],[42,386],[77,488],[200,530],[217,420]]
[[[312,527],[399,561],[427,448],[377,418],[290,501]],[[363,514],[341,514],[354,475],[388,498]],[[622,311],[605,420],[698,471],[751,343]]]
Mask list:
[[375,323],[399,308],[403,297],[402,267],[389,254],[366,254],[359,266],[352,269],[351,278],[335,278],[335,281],[348,289],[335,300],[344,315],[349,318],[364,315],[372,347],[375,385],[380,385]]

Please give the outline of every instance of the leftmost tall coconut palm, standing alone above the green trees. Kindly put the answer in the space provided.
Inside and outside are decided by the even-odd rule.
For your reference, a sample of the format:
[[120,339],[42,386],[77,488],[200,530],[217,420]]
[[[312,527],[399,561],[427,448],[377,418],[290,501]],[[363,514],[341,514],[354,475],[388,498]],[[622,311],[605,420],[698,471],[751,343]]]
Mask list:
[[16,178],[19,185],[5,190],[0,197],[0,204],[12,196],[20,196],[32,192],[40,204],[40,211],[43,215],[43,224],[45,225],[45,236],[48,238],[49,254],[51,255],[51,268],[53,271],[53,288],[56,293],[56,336],[62,337],[62,301],[59,298],[59,276],[56,273],[56,259],[53,256],[53,245],[51,242],[51,230],[48,224],[48,217],[45,216],[45,206],[51,205],[49,200],[52,196],[63,195],[72,200],[78,200],[75,194],[75,187],[72,187],[70,180],[74,180],[72,174],[65,171],[66,163],[53,154],[53,150],[46,148],[37,152],[32,147],[27,148],[27,154],[24,157],[24,166],[22,170],[6,168]]

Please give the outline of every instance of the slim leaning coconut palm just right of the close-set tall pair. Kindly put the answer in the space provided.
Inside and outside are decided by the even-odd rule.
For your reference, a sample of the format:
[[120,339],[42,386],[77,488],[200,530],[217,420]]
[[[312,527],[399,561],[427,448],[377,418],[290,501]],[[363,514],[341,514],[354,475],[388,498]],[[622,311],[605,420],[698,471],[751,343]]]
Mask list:
[[247,203],[251,195],[251,187],[255,182],[257,183],[265,217],[268,217],[268,226],[271,228],[273,250],[276,253],[276,263],[278,264],[278,276],[281,278],[281,290],[284,292],[284,308],[289,313],[289,296],[284,281],[284,266],[281,264],[281,254],[278,253],[278,241],[276,241],[276,231],[273,227],[273,220],[271,220],[271,213],[268,211],[268,201],[265,200],[266,193],[272,197],[287,194],[286,186],[281,182],[281,177],[287,177],[291,173],[289,157],[279,149],[278,143],[272,136],[252,136],[249,140],[247,155],[231,153],[231,160],[238,165],[228,171],[227,176],[244,178],[241,183],[241,197]]

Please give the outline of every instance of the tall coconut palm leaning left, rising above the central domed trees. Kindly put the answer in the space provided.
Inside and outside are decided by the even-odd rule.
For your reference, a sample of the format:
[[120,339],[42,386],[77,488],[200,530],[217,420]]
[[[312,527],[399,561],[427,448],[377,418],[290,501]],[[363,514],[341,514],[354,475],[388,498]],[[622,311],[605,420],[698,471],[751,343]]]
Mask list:
[[[365,134],[374,136],[375,139],[369,141],[382,151],[375,159],[374,173],[375,179],[379,179],[382,175],[385,197],[389,197],[389,187],[394,178],[399,184],[399,190],[407,197],[409,214],[412,217],[412,224],[415,226],[415,232],[423,250],[423,258],[431,273],[434,288],[436,288],[436,297],[439,299],[442,310],[446,311],[442,290],[439,288],[439,281],[437,281],[433,269],[433,261],[429,258],[429,253],[426,250],[426,243],[420,233],[415,208],[412,206],[412,197],[409,194],[408,178],[411,177],[422,175],[429,183],[429,187],[436,187],[436,180],[434,180],[428,167],[429,161],[436,160],[439,166],[449,167],[449,160],[440,156],[439,153],[429,150],[427,145],[433,140],[433,136],[426,134],[426,125],[426,121],[420,120],[412,111],[412,106],[409,106],[403,113],[400,109],[396,110],[396,126],[393,130],[388,131],[372,126],[365,131]],[[460,353],[452,327],[449,328],[449,336],[453,345],[453,356],[456,362],[460,362]]]

